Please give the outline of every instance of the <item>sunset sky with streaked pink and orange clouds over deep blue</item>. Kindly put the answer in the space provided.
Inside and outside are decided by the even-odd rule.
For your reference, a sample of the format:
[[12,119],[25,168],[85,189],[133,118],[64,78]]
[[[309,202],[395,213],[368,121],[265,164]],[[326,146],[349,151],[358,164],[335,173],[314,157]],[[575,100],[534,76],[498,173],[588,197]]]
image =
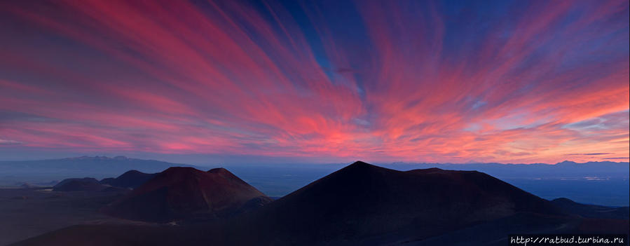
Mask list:
[[628,161],[629,1],[1,1],[0,160]]

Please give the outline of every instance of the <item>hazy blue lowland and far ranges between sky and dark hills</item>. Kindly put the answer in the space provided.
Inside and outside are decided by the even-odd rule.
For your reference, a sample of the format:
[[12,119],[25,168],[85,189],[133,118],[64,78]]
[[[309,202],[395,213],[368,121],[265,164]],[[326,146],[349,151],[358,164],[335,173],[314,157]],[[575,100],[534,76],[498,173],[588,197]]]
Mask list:
[[[329,175],[347,164],[301,165],[225,165],[231,172],[272,197],[282,197],[300,187]],[[500,163],[384,163],[385,168],[413,170],[441,168],[443,170],[477,170],[497,177],[520,189],[545,199],[567,197],[580,203],[627,206],[630,193],[629,163],[564,161],[549,164],[500,164]],[[60,180],[76,177],[104,179],[118,177],[128,170],[147,174],[162,172],[167,168],[210,167],[167,163],[158,160],[141,160],[118,156],[83,156],[55,160],[0,161],[0,186],[52,186]],[[217,166],[214,166],[217,167]],[[213,167],[213,168],[214,168]],[[122,177],[124,179],[124,177]],[[114,178],[108,182],[117,182]],[[124,181],[121,181],[124,182]],[[111,184],[113,185],[113,184]],[[138,184],[131,184],[137,186]],[[118,184],[116,184],[118,186]],[[132,186],[127,186],[133,188]],[[554,189],[549,189],[554,187]]]

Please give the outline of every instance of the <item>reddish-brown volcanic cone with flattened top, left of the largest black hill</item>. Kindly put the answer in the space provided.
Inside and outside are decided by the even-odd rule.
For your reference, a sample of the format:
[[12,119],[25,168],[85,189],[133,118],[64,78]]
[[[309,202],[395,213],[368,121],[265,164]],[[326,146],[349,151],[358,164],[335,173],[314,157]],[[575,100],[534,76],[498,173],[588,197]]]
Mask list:
[[168,168],[102,212],[123,219],[167,222],[223,217],[249,210],[246,205],[255,203],[250,201],[261,199],[271,201],[224,168],[208,172]]

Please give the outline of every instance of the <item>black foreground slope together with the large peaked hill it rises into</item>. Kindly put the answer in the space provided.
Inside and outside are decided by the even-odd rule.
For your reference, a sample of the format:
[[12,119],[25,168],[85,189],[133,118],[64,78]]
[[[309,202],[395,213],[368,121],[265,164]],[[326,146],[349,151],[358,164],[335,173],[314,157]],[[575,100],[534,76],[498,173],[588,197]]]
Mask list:
[[[186,187],[183,193],[197,185]],[[509,233],[629,229],[623,213],[560,202],[481,172],[402,172],[357,162],[233,218],[184,226],[79,225],[16,245],[507,245]]]

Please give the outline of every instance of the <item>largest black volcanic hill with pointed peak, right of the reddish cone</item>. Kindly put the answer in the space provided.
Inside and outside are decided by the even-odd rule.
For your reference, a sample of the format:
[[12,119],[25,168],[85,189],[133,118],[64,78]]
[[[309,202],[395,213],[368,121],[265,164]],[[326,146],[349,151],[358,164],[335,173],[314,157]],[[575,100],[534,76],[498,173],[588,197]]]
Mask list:
[[357,161],[242,218],[240,225],[278,225],[266,233],[299,245],[387,233],[425,238],[517,212],[562,214],[549,201],[481,172],[401,172]]

